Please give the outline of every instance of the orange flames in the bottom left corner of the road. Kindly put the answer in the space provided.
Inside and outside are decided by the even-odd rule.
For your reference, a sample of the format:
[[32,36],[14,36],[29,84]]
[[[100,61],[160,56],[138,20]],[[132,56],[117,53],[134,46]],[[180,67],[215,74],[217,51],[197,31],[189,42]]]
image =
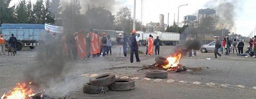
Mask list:
[[[30,84],[32,82],[29,82]],[[29,88],[25,82],[17,83],[16,86],[8,94],[3,94],[1,99],[27,99],[34,96],[34,90]]]

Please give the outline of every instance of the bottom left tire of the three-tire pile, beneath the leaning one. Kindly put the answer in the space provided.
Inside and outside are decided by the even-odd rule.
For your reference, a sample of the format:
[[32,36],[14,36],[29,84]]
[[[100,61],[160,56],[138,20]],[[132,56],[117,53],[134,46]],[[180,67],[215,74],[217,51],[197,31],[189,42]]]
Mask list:
[[102,92],[102,90],[104,91],[108,91],[109,87],[108,86],[94,86],[94,85],[90,85],[90,83],[85,83],[83,85],[83,92],[84,93],[88,93],[88,94],[100,94]]

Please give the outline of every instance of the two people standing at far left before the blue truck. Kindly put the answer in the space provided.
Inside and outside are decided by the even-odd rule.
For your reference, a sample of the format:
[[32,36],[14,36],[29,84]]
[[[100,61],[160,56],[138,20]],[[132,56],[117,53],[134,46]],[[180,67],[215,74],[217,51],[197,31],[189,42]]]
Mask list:
[[[3,34],[0,34],[0,55],[5,55],[5,39],[3,37]],[[14,34],[12,34],[12,37],[9,38],[9,47],[12,47],[14,49],[15,54],[17,54],[16,44],[17,44],[17,38],[14,37]]]

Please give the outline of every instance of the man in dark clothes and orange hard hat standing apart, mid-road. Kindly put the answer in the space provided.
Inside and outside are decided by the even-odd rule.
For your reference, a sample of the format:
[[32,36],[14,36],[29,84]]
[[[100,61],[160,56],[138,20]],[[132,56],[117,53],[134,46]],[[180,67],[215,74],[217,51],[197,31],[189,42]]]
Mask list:
[[129,47],[130,47],[130,62],[133,63],[133,53],[135,53],[136,61],[140,62],[139,58],[139,38],[135,35],[136,31],[133,30],[129,37]]

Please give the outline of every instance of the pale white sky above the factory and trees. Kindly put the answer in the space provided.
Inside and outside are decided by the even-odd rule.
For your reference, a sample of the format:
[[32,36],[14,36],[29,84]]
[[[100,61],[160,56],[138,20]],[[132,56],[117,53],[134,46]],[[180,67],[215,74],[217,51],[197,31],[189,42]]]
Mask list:
[[[19,0],[12,0],[10,5],[18,2]],[[34,3],[36,0],[31,0],[31,2]],[[197,16],[199,9],[217,9],[221,2],[230,2],[234,5],[235,13],[232,15],[234,16],[235,24],[230,30],[243,36],[249,36],[251,32],[254,35],[254,29],[256,28],[256,0],[136,0],[136,19],[141,20],[142,12],[142,23],[145,25],[151,21],[159,22],[159,15],[164,14],[164,24],[167,24],[169,13],[169,24],[172,25],[174,14],[175,22],[178,20],[178,7],[180,5],[187,4],[179,9],[179,23],[183,21],[183,17],[186,15]],[[127,6],[131,9],[133,16],[133,5],[134,0],[115,0],[114,7],[109,10],[112,14],[116,14],[121,7]],[[225,23],[224,27],[228,28]]]

